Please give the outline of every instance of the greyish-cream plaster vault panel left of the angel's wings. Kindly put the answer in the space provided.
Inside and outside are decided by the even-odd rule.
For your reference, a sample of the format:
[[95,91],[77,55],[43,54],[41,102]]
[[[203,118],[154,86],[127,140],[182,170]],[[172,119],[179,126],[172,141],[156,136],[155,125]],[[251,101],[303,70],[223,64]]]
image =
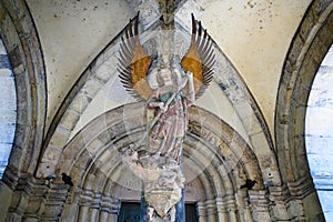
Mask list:
[[27,0],[47,67],[47,128],[83,70],[134,13],[125,1]]

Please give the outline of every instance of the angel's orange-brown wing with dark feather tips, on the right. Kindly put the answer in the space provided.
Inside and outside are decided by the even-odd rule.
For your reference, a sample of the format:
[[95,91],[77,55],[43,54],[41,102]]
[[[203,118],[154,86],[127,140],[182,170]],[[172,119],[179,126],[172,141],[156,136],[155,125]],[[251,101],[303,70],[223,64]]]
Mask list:
[[213,67],[215,63],[215,53],[213,41],[203,30],[201,22],[194,19],[192,13],[192,37],[188,52],[181,60],[184,71],[191,71],[194,79],[195,98],[203,94],[205,88],[213,79]]

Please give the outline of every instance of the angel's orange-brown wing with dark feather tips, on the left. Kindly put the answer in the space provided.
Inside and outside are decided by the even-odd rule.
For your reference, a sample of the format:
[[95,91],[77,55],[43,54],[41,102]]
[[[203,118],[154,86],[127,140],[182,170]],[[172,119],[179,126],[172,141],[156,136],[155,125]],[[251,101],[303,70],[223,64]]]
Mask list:
[[118,58],[119,78],[127,91],[137,99],[148,99],[152,89],[147,80],[151,58],[145,53],[139,40],[139,12],[124,28]]

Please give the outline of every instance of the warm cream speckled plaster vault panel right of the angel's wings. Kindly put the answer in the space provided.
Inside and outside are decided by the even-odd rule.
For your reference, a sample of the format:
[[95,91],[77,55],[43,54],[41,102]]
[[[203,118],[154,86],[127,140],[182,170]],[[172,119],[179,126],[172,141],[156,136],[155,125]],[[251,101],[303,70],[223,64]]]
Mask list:
[[210,1],[199,17],[243,77],[271,133],[283,61],[310,2]]

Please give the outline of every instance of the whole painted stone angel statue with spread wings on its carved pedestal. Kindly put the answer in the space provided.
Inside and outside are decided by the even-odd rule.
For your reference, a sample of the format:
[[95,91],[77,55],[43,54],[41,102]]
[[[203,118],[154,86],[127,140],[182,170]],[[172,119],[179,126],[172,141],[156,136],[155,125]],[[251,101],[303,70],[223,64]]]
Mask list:
[[[125,90],[138,100],[145,100],[145,108],[152,113],[152,118],[148,118],[143,135],[147,140],[144,154],[138,155],[133,149],[134,154],[129,155],[128,163],[143,180],[147,212],[184,221],[179,215],[180,210],[174,209],[183,199],[181,163],[182,144],[188,129],[188,108],[212,81],[215,62],[213,41],[192,14],[191,43],[179,61],[180,65],[163,61],[157,62],[159,67],[152,69],[152,58],[143,49],[138,29],[139,13],[130,20],[121,38],[118,71]],[[157,78],[155,89],[148,80],[151,74]],[[154,195],[154,192],[159,194]],[[165,201],[161,201],[162,199]]]

